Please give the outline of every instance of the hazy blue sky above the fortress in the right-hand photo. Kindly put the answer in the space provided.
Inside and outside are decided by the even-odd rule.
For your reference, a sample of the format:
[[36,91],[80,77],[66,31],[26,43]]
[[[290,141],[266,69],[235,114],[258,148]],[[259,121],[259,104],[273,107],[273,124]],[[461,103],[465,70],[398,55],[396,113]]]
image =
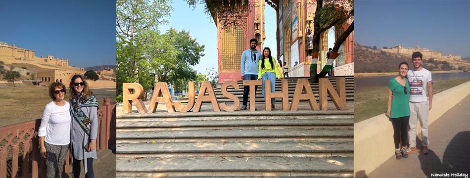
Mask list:
[[361,45],[430,48],[470,56],[470,1],[355,0],[354,40]]

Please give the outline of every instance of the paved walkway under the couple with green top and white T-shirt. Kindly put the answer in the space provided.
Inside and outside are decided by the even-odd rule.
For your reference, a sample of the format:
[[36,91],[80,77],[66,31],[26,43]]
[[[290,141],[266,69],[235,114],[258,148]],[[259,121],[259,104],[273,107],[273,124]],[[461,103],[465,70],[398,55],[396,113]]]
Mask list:
[[[408,158],[395,155],[367,175],[368,178],[468,178],[470,175],[470,95],[429,126],[429,154],[418,150]],[[384,138],[388,139],[388,138]],[[392,139],[392,138],[389,138]],[[449,174],[432,176],[432,174]],[[456,174],[459,175],[451,175]],[[460,176],[463,173],[464,176]],[[467,175],[467,177],[465,176]]]

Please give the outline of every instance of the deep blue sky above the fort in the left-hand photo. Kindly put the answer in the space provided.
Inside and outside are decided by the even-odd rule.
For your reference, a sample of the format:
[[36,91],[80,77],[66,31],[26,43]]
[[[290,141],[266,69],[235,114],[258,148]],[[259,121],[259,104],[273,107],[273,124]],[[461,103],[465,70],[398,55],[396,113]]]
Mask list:
[[69,65],[116,65],[115,0],[1,0],[0,41],[68,58]]

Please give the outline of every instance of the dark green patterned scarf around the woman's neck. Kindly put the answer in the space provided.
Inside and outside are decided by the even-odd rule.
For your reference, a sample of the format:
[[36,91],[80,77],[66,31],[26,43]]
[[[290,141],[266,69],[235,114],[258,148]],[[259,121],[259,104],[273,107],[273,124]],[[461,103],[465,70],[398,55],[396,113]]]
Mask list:
[[80,109],[81,107],[98,107],[96,98],[88,95],[83,98],[82,93],[70,99],[70,112],[75,120],[80,124],[80,127],[90,136],[90,118]]

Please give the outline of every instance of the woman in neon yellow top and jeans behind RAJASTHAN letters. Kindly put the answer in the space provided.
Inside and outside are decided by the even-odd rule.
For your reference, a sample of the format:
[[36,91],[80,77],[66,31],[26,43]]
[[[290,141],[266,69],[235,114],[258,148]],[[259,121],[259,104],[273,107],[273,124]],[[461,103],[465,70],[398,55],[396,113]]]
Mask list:
[[[281,73],[278,68],[275,67],[276,59],[271,56],[271,49],[265,47],[263,49],[263,57],[258,62],[258,80],[263,80],[262,92],[263,96],[266,98],[265,94],[265,85],[264,81],[270,80],[271,82],[271,92],[274,92],[276,89],[276,79],[281,78]],[[274,109],[276,104],[275,98],[271,98],[271,108]]]

